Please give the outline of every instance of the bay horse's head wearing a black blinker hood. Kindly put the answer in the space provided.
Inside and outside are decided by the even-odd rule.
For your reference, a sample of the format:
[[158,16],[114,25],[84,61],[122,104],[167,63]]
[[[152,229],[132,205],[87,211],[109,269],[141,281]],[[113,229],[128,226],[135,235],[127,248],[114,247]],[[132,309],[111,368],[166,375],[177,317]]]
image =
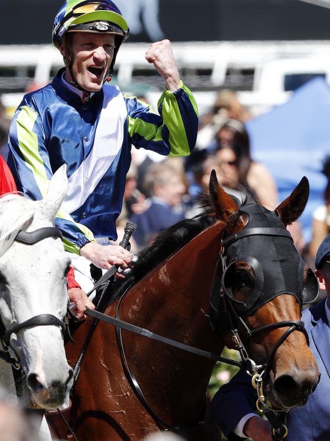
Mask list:
[[224,223],[218,285],[226,314],[218,330],[233,346],[228,331],[238,328],[249,358],[260,365],[259,373],[263,370],[268,398],[279,408],[304,405],[320,375],[300,322],[303,302],[317,295],[317,280],[286,230],[303,212],[308,196],[303,178],[274,211],[252,201],[239,207],[218,185],[215,173],[210,180],[212,206]]

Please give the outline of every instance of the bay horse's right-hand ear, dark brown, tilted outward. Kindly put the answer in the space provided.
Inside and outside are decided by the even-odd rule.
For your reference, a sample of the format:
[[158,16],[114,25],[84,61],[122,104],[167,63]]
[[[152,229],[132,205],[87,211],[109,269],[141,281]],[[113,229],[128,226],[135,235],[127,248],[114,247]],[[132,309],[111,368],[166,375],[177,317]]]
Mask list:
[[285,226],[291,224],[300,217],[306,207],[308,196],[309,182],[304,176],[290,196],[283,200],[275,210],[280,215]]

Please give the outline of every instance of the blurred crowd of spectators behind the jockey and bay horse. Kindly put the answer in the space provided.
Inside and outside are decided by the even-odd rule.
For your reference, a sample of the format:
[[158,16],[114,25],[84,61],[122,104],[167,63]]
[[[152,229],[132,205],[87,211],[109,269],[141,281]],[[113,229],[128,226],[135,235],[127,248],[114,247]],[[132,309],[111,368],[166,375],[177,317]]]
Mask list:
[[[123,211],[117,222],[119,238],[127,220],[137,223],[133,251],[138,252],[161,230],[200,214],[199,195],[207,191],[212,169],[228,193],[240,199],[242,187],[247,187],[262,205],[274,210],[279,203],[275,180],[264,164],[251,157],[245,128],[250,117],[235,93],[223,90],[211,112],[202,115],[196,148],[189,157],[166,158],[133,149]],[[330,231],[330,157],[325,158],[322,172],[328,185],[324,205],[313,215],[311,242],[306,243],[299,221],[288,227],[296,248],[308,262],[313,262],[315,250]]]

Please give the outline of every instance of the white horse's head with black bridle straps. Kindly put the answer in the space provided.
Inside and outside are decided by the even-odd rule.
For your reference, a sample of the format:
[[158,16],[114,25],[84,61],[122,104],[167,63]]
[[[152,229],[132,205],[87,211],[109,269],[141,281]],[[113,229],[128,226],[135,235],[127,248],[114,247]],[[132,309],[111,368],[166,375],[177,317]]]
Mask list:
[[[61,405],[72,386],[62,335],[70,259],[59,232],[52,228],[67,185],[66,167],[62,166],[45,199],[31,201],[17,194],[0,198],[2,342],[18,358],[26,376],[23,392],[27,404],[43,408]],[[32,238],[30,244],[19,240],[19,231],[27,241]],[[33,231],[40,237],[33,239],[28,234]]]

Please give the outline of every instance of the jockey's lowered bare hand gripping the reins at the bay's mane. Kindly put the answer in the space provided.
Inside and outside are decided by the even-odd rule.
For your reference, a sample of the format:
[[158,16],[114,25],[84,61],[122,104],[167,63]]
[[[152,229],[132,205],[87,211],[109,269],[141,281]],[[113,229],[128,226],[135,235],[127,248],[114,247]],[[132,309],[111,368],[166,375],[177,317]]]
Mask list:
[[[109,270],[113,265],[125,270],[133,258],[131,252],[119,245],[102,246],[97,242],[88,242],[84,245],[80,249],[80,255],[94,263],[95,267],[103,270]],[[116,273],[116,276],[124,278],[123,275],[118,273]]]

